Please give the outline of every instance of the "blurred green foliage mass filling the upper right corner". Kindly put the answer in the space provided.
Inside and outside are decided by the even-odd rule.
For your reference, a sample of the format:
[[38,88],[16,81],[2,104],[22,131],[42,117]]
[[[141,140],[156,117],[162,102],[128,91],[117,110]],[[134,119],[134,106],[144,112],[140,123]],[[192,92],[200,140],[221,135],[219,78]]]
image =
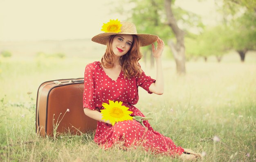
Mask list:
[[222,56],[228,50],[256,50],[256,2],[223,0],[223,21],[206,27],[193,39],[185,39],[188,57]]

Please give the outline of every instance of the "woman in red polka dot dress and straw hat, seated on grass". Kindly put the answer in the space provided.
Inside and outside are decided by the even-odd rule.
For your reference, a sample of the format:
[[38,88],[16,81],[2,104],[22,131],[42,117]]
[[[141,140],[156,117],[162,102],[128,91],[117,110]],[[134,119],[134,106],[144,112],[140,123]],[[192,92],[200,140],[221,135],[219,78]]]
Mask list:
[[[112,21],[112,22],[111,22]],[[104,26],[105,25],[105,26]],[[198,154],[185,154],[182,147],[176,147],[174,142],[154,131],[147,120],[144,126],[136,120],[119,121],[111,125],[110,120],[103,120],[100,113],[104,109],[102,103],[122,101],[132,112],[130,116],[142,116],[134,105],[138,102],[138,86],[148,93],[163,94],[164,79],[161,56],[164,42],[156,35],[137,34],[134,24],[110,20],[104,24],[105,33],[92,38],[92,41],[107,45],[106,53],[101,61],[89,63],[85,68],[85,87],[83,96],[84,113],[98,120],[94,141],[105,149],[113,144],[124,147],[142,145],[146,150],[166,155],[180,155],[183,159],[193,159]],[[157,49],[154,42],[157,41]],[[139,46],[152,44],[153,57],[156,60],[157,77],[151,79],[141,70]]]

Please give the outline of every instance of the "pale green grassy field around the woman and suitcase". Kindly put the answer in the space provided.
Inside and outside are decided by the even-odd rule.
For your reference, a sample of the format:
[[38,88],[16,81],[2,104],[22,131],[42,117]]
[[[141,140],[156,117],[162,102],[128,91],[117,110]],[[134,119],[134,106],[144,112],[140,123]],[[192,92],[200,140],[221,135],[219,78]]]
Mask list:
[[[35,134],[36,92],[40,83],[83,77],[85,65],[98,59],[36,59],[13,57],[0,61],[0,161],[179,162],[142,149],[99,149],[94,132],[41,138]],[[141,62],[146,74],[155,70]],[[240,63],[227,55],[186,63],[177,76],[173,60],[164,61],[165,92],[139,89],[137,107],[152,127],[175,144],[206,154],[205,162],[256,161],[256,54]],[[214,141],[213,137],[220,141]],[[113,156],[114,155],[114,156]]]

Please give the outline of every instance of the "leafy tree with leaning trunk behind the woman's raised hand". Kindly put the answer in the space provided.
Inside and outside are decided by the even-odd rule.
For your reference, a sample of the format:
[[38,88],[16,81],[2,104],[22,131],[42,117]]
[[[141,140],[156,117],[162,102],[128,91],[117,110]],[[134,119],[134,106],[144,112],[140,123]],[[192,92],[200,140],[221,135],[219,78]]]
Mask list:
[[[166,4],[163,3],[163,0],[128,0],[128,3],[134,4],[134,7],[132,9],[125,9],[120,8],[120,6],[126,6],[124,5],[124,1],[122,1],[122,5],[119,5],[118,9],[116,9],[119,13],[125,13],[126,15],[130,15],[128,18],[128,21],[134,22],[137,27],[138,33],[150,33],[154,35],[158,35],[161,39],[164,40],[164,42],[171,42],[171,39],[176,39],[176,43],[173,43],[173,45],[170,45],[170,47],[173,51],[174,56],[178,56],[175,59],[176,65],[177,65],[177,72],[179,74],[183,74],[186,72],[185,69],[185,48],[184,48],[184,42],[183,47],[180,46],[180,38],[177,39],[177,33],[173,31],[171,28],[171,23],[168,20],[168,15],[166,12]],[[191,26],[202,26],[201,19],[194,13],[184,11],[179,7],[173,7],[174,0],[171,0],[170,2],[167,2],[168,4],[168,13],[171,10],[171,14],[173,15],[173,22],[174,24],[179,24],[179,26],[182,26],[183,28],[180,28],[180,31],[183,33],[183,39],[184,35],[187,36],[190,35],[189,31],[187,31],[187,28],[190,28]],[[175,19],[174,19],[175,15]],[[177,20],[177,21],[176,21]],[[178,40],[178,41],[177,41]],[[168,43],[167,43],[168,44]],[[180,48],[180,47],[182,48]],[[175,49],[176,48],[176,49]],[[180,59],[180,52],[183,52],[183,59]],[[151,47],[144,47],[142,48],[143,53],[151,53]],[[180,61],[181,60],[181,61]],[[183,63],[182,63],[183,61]],[[152,64],[151,64],[152,66]]]

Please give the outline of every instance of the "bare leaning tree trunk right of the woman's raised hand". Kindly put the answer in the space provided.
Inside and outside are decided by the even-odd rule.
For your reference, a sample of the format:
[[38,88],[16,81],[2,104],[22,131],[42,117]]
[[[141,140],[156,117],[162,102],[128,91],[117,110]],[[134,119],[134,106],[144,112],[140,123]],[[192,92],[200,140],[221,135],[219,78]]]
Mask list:
[[168,41],[168,46],[170,46],[173,56],[176,62],[176,70],[178,74],[185,74],[185,46],[184,46],[184,31],[182,31],[178,26],[177,22],[173,16],[173,12],[171,9],[171,1],[172,0],[165,0],[165,9],[166,9],[166,16],[167,16],[167,24],[171,27],[173,33],[176,37],[176,44],[174,44],[171,40]]

